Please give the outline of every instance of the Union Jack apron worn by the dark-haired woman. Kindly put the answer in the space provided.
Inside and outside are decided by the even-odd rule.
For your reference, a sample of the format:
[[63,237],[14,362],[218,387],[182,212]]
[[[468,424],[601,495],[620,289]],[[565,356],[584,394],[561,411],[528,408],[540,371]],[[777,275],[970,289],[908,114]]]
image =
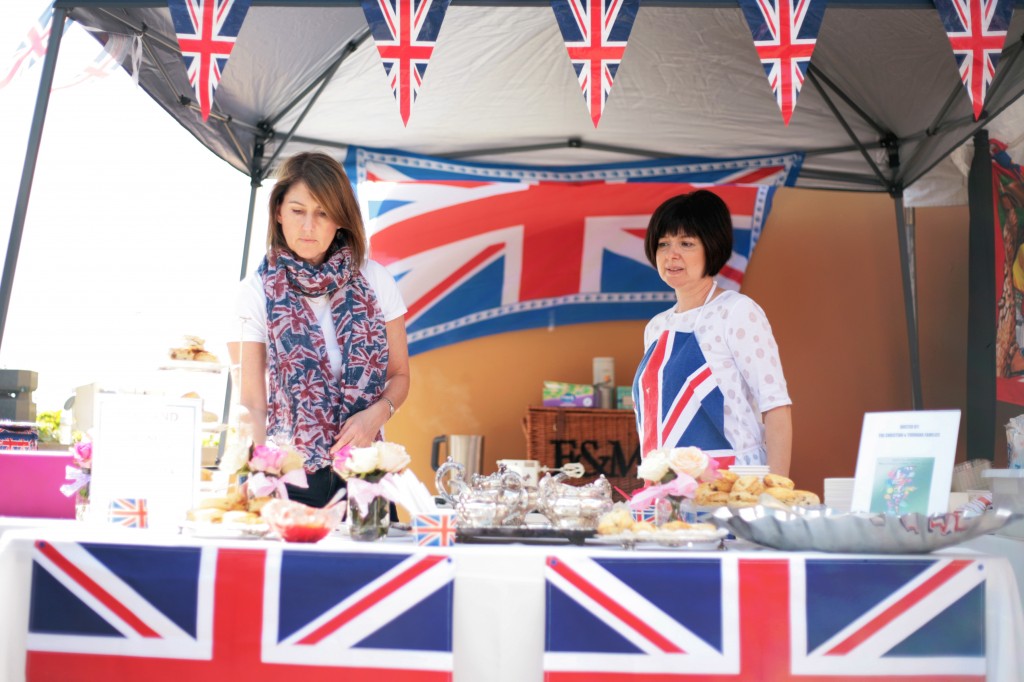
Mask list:
[[[696,329],[708,298],[697,311]],[[633,404],[640,452],[657,447],[696,446],[722,467],[735,461],[725,437],[725,396],[692,332],[666,330],[650,344],[633,379]]]

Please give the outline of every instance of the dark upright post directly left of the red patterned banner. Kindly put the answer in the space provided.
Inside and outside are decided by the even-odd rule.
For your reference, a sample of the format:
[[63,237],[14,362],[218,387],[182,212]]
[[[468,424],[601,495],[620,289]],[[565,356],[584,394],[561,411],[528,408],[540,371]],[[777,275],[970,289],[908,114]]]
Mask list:
[[967,181],[968,238],[967,457],[995,457],[995,220],[988,131],[974,135]]

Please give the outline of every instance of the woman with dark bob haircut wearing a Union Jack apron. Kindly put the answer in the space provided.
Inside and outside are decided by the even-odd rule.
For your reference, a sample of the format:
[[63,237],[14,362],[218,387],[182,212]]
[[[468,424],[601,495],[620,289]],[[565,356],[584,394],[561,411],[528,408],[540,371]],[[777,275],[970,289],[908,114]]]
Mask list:
[[673,197],[647,225],[644,250],[676,304],[644,330],[633,383],[641,453],[696,446],[720,466],[787,476],[790,394],[761,307],[715,275],[732,256],[732,217],[707,189]]

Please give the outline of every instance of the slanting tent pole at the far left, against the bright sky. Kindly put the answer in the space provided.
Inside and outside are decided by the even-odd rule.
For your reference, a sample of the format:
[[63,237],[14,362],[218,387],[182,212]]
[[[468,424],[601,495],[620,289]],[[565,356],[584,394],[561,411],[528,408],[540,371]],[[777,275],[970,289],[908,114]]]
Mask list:
[[53,86],[53,72],[57,66],[57,53],[60,51],[60,39],[63,37],[63,26],[68,19],[67,9],[57,9],[50,25],[50,38],[43,59],[43,73],[39,78],[39,92],[36,94],[36,109],[32,115],[32,127],[29,129],[29,146],[25,152],[25,166],[22,168],[22,184],[17,188],[17,202],[14,204],[14,220],[10,225],[10,237],[7,240],[7,256],[3,264],[3,278],[0,279],[0,345],[3,344],[4,328],[7,326],[7,312],[10,310],[10,294],[14,285],[14,270],[17,269],[17,255],[22,250],[22,235],[25,232],[25,217],[29,211],[29,197],[32,195],[32,180],[36,175],[36,161],[39,158],[39,143],[43,138],[43,123],[46,121],[46,109],[50,103],[50,88]]

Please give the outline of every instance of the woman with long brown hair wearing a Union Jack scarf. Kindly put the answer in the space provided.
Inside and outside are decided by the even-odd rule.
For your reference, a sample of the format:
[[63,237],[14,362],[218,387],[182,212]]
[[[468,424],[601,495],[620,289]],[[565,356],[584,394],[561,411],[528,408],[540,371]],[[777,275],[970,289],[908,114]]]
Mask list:
[[308,486],[291,499],[323,507],[342,486],[333,455],[382,437],[409,395],[406,305],[368,244],[341,165],[299,154],[270,193],[267,253],[241,285],[241,402],[253,441],[289,444],[305,458]]

